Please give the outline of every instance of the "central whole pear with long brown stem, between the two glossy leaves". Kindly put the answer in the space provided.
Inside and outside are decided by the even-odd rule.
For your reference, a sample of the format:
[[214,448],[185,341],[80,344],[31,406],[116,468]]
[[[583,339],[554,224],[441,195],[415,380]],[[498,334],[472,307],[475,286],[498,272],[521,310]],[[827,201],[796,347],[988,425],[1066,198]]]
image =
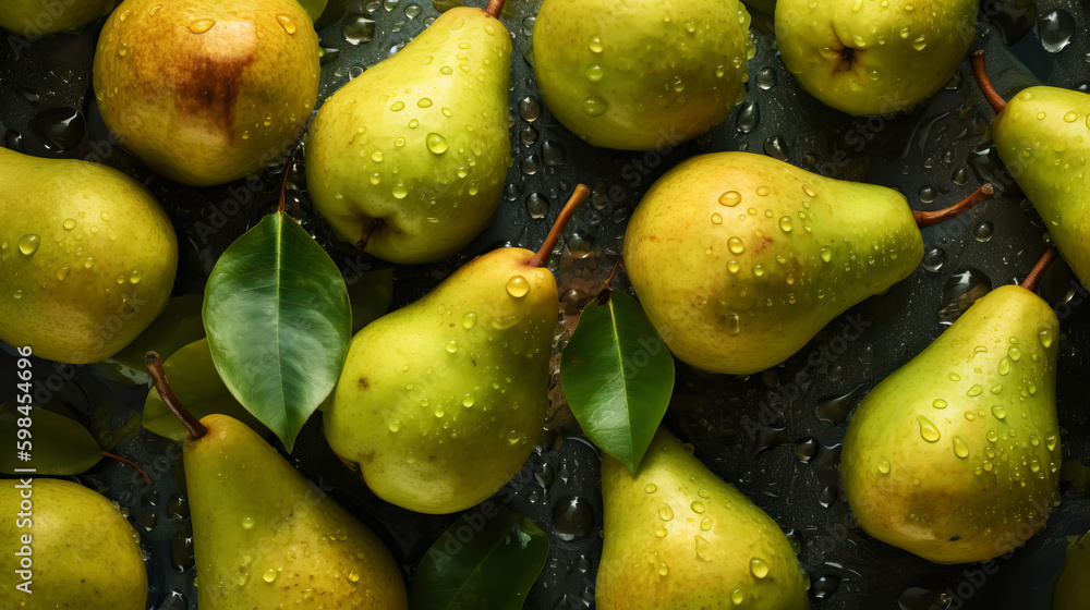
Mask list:
[[543,265],[588,194],[577,187],[537,254],[492,251],[352,338],[326,439],[379,498],[421,513],[461,511],[530,456],[548,408],[559,313]]

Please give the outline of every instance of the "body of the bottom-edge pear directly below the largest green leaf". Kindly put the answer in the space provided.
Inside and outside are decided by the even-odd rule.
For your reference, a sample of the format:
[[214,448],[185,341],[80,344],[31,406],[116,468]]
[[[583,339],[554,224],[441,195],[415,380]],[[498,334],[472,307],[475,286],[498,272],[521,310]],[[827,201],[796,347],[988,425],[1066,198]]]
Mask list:
[[201,424],[183,463],[202,610],[408,607],[374,533],[238,419]]

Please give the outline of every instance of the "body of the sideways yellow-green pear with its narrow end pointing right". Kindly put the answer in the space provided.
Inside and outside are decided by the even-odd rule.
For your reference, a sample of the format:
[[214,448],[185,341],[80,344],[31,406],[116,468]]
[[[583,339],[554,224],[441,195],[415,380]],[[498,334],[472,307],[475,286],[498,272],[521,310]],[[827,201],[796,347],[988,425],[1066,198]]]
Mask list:
[[656,181],[625,234],[647,318],[698,368],[744,375],[801,349],[905,279],[923,239],[903,195],[763,155],[693,157]]

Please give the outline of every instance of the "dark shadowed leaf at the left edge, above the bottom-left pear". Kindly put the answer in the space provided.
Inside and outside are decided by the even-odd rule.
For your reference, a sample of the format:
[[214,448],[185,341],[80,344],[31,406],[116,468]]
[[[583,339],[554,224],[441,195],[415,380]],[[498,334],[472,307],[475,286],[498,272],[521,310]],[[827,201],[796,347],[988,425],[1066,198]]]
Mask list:
[[46,411],[39,406],[31,410],[31,461],[17,459],[19,419],[24,414],[10,402],[0,406],[0,472],[15,474],[15,468],[35,468],[39,475],[77,475],[90,469],[102,459],[102,448],[95,437],[75,419]]

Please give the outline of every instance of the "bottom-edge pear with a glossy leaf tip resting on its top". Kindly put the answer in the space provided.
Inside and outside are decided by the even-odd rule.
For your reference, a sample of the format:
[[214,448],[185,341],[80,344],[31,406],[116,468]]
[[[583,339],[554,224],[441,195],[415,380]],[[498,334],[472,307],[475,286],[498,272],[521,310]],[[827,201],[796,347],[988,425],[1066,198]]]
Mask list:
[[635,475],[603,455],[602,610],[792,610],[810,581],[764,511],[665,428]]

